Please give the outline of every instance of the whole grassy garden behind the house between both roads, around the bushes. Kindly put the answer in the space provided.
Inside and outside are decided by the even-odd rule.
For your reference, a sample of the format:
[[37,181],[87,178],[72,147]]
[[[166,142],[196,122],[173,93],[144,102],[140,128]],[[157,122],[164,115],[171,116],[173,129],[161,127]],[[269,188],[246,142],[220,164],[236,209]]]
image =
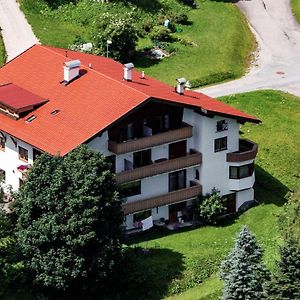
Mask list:
[[45,0],[19,1],[40,41],[65,48],[76,38],[92,41],[94,21],[106,11],[134,11],[140,27],[151,18],[161,19],[162,11],[165,12],[163,18],[186,13],[190,25],[180,25],[182,32],[174,34],[185,41],[171,44],[176,50],[174,55],[162,61],[146,58],[142,54],[144,48],[153,46],[146,35],[139,40],[134,58],[137,68],[171,85],[179,77],[188,78],[194,86],[240,77],[247,68],[254,47],[245,18],[234,4],[226,1],[198,0],[198,9],[191,9],[177,0],[103,4],[79,0],[77,4],[58,8],[49,7]]

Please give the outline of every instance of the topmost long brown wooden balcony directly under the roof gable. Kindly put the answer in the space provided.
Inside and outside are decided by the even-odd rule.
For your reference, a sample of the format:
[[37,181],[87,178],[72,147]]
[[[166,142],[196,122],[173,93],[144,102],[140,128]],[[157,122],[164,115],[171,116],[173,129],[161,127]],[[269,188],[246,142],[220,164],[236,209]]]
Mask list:
[[187,139],[192,137],[192,135],[193,127],[184,124],[183,127],[178,129],[157,133],[151,136],[126,141],[123,143],[108,141],[108,150],[115,154],[124,154]]

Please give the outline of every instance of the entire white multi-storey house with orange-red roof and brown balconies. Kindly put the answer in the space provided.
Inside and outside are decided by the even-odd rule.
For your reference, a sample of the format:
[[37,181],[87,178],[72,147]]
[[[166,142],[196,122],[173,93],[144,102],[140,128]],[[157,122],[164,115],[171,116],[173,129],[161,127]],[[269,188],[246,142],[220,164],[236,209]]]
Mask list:
[[132,64],[36,45],[0,69],[0,169],[18,189],[42,151],[87,144],[122,184],[127,229],[149,215],[188,217],[215,187],[229,211],[253,200],[257,145],[239,139],[256,118],[142,76]]

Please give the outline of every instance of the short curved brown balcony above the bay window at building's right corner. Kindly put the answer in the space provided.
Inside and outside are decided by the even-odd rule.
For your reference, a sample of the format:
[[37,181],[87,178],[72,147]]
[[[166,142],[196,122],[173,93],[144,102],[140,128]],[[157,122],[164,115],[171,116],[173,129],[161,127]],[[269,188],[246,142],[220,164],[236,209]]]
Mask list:
[[243,162],[256,157],[258,146],[249,140],[239,140],[239,150],[227,153],[227,162]]

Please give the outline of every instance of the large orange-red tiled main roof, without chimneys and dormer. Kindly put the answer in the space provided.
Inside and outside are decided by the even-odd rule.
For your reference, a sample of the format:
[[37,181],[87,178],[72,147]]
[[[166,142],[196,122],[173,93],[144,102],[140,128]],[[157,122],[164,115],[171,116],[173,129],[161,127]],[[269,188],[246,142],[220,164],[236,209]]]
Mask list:
[[[79,59],[86,73],[64,86],[63,64]],[[91,66],[91,67],[88,67]],[[174,88],[133,71],[123,80],[123,65],[112,59],[35,45],[0,69],[0,84],[12,82],[49,101],[34,111],[37,117],[12,120],[0,114],[0,130],[51,154],[65,155],[104,130],[147,99],[157,98],[198,107],[244,121],[256,118],[201,93],[175,93]],[[59,109],[60,113],[51,115]]]

